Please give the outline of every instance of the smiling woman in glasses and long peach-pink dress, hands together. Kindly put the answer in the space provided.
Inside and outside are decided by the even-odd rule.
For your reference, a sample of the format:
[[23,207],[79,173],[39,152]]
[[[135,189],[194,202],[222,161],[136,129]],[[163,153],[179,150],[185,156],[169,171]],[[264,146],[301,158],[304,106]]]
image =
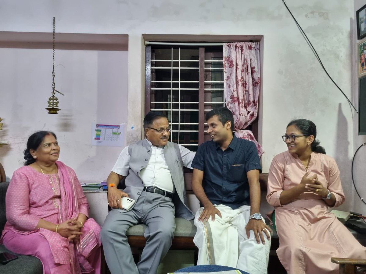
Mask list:
[[345,196],[337,164],[316,134],[313,122],[291,121],[282,136],[288,151],[276,155],[269,168],[267,201],[275,207],[277,255],[290,274],[336,274],[339,265],[331,257],[366,258],[366,248],[328,211]]

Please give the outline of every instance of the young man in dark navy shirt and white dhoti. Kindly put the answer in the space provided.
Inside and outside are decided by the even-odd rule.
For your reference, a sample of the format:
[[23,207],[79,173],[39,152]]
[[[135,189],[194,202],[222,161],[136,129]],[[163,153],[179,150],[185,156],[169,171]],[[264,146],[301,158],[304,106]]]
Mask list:
[[195,216],[198,264],[267,273],[271,231],[259,213],[257,148],[233,135],[227,108],[210,111],[206,120],[212,141],[199,146],[191,165],[192,189],[202,206]]

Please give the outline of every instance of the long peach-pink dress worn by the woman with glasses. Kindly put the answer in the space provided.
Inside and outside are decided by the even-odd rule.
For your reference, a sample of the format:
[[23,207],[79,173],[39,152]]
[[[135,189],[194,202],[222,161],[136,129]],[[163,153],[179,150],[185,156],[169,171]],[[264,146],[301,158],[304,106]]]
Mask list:
[[[307,171],[336,197],[335,206],[345,196],[335,160],[325,154],[311,153]],[[280,246],[277,255],[290,274],[338,273],[339,265],[331,257],[366,258],[366,248],[312,192],[304,192],[291,203],[281,205],[280,194],[297,186],[306,170],[297,156],[288,151],[276,155],[269,168],[267,201],[275,207]]]

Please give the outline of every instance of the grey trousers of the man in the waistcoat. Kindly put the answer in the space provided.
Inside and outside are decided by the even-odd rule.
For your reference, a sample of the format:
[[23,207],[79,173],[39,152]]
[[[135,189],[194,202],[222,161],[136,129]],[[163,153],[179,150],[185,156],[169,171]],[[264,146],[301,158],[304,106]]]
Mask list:
[[[100,233],[105,260],[112,274],[156,274],[159,263],[172,245],[175,210],[170,198],[142,191],[130,211],[112,209]],[[146,224],[146,246],[136,265],[126,232],[136,224]]]

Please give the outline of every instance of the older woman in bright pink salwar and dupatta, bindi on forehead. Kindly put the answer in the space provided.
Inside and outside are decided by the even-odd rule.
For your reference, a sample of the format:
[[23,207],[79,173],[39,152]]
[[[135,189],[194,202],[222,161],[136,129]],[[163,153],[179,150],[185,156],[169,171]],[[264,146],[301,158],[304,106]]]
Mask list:
[[0,243],[38,257],[44,273],[100,273],[100,226],[75,172],[60,161],[52,132],[29,137],[25,166],[14,172],[6,195],[7,223]]

